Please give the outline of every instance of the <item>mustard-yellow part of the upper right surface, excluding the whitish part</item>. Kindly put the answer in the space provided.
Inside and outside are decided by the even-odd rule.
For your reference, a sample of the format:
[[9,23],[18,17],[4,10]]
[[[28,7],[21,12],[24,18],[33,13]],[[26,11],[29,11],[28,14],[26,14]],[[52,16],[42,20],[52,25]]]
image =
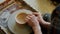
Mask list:
[[51,3],[49,0],[40,0],[40,8],[43,13],[51,13],[54,9],[55,6]]

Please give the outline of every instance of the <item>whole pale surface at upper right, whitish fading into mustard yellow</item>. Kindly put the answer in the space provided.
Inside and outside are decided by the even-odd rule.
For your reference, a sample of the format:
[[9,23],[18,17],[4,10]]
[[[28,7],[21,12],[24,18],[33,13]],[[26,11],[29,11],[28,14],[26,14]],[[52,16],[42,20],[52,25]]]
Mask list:
[[51,13],[55,6],[50,0],[24,0],[30,7],[41,13]]

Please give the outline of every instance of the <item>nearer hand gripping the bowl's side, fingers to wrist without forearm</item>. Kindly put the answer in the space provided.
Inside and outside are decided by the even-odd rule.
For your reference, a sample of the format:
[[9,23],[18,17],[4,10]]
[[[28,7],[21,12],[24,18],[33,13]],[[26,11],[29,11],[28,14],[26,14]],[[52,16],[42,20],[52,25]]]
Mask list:
[[27,23],[33,28],[36,26],[39,26],[39,22],[37,20],[37,17],[33,14],[29,14],[26,19]]

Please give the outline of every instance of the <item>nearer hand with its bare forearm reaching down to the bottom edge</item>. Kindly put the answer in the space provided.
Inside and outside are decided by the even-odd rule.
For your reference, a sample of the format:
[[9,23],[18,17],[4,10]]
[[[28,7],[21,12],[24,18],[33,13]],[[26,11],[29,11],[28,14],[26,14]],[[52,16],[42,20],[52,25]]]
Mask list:
[[32,27],[34,34],[42,34],[41,27],[35,15],[30,14],[26,17],[25,20]]

